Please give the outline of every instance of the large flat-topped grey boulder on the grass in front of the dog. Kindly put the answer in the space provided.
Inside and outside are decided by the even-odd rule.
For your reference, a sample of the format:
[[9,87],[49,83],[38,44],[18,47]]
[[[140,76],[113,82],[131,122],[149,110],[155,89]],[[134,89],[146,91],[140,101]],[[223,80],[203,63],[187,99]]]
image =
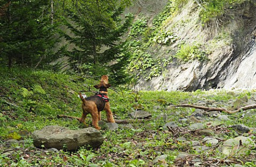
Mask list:
[[79,147],[90,145],[93,148],[103,143],[100,131],[94,128],[70,130],[66,127],[47,126],[31,135],[38,148],[57,148],[76,151]]

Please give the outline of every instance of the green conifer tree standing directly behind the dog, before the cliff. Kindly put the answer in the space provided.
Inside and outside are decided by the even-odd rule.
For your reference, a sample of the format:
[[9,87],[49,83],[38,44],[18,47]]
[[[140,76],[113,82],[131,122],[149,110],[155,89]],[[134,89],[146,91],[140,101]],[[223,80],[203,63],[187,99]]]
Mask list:
[[66,39],[76,46],[69,54],[74,69],[94,76],[127,77],[123,70],[127,55],[121,54],[121,37],[131,24],[132,15],[121,23],[124,7],[116,0],[79,1],[76,10],[66,9],[66,25],[73,34],[66,34]]

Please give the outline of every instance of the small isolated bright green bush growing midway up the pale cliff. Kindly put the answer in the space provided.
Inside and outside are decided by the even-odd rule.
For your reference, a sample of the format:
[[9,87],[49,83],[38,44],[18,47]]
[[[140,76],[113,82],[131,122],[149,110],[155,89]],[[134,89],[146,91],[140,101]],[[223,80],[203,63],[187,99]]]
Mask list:
[[184,62],[195,59],[198,59],[199,61],[208,60],[207,53],[200,48],[200,45],[190,44],[181,45],[179,51],[175,54],[175,57]]

